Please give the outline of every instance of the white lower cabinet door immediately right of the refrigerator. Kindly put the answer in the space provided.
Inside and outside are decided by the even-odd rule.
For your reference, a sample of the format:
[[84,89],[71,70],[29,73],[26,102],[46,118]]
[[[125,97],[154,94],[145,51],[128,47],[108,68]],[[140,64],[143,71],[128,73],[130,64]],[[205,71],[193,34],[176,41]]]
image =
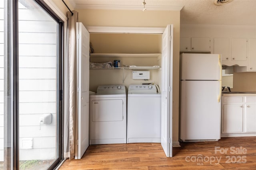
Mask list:
[[243,131],[243,105],[224,104],[222,113],[222,133]]

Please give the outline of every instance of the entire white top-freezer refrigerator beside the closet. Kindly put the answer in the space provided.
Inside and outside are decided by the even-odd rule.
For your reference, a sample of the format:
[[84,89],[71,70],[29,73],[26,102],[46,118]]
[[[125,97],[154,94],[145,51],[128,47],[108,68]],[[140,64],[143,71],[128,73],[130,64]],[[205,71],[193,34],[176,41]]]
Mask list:
[[218,54],[180,56],[180,141],[218,141],[222,64]]

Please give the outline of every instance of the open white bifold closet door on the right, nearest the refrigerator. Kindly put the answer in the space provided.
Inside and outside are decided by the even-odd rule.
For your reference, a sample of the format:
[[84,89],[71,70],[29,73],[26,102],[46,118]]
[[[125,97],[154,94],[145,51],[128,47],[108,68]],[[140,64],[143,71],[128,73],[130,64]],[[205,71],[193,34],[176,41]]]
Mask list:
[[161,145],[167,157],[172,157],[172,54],[173,25],[167,25],[162,35],[162,96]]

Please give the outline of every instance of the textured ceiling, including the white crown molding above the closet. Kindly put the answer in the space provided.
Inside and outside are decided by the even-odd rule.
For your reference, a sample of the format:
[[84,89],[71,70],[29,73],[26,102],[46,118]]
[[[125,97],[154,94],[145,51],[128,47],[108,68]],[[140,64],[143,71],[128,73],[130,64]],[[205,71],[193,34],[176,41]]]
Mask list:
[[[75,8],[142,10],[143,0],[70,0]],[[147,10],[180,10],[181,24],[256,25],[256,0],[145,0]],[[177,8],[175,8],[177,7]]]

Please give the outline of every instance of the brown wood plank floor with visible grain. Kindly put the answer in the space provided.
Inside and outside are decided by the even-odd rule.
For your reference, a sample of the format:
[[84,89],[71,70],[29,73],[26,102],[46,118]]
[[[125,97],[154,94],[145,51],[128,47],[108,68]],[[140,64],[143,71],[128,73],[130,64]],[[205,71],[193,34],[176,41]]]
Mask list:
[[226,137],[218,142],[181,143],[167,158],[160,143],[91,145],[80,160],[60,170],[256,170],[256,137]]

